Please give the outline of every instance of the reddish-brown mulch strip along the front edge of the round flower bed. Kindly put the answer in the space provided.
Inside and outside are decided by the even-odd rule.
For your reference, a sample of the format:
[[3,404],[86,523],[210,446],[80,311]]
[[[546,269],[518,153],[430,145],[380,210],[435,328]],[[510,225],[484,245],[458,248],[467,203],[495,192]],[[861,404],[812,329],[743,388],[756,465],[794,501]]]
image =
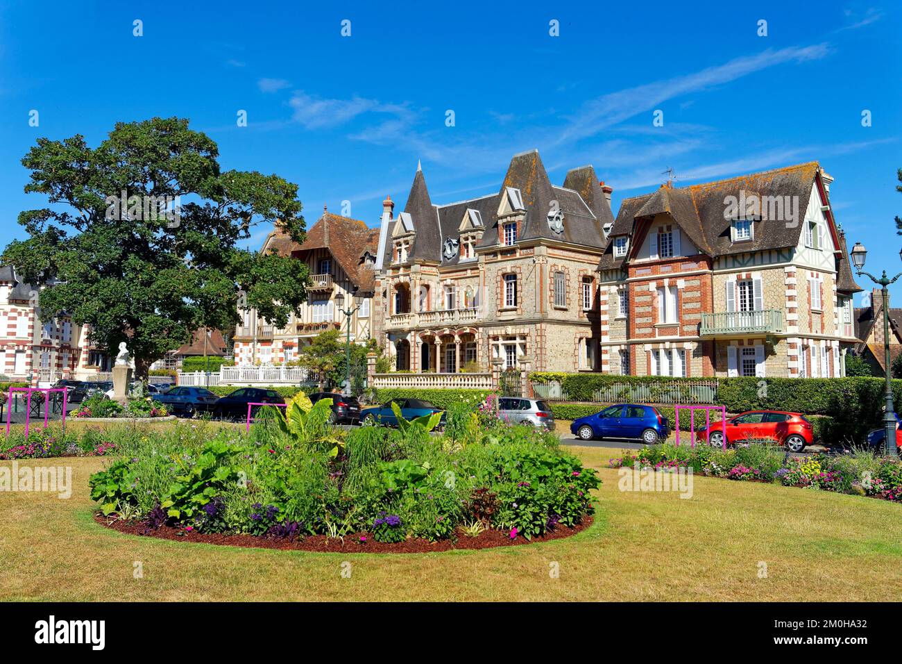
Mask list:
[[[127,535],[172,539],[180,542],[216,544],[226,547],[275,548],[282,551],[318,551],[320,553],[432,553],[436,551],[451,551],[453,549],[517,547],[533,542],[548,542],[552,539],[568,538],[588,528],[593,522],[592,517],[585,517],[583,522],[574,528],[557,526],[547,535],[540,538],[532,538],[531,540],[523,537],[511,539],[509,533],[490,529],[483,531],[474,538],[460,535],[456,542],[449,539],[430,542],[427,539],[411,538],[397,544],[383,544],[373,539],[371,533],[346,535],[344,542],[341,539],[327,538],[325,535],[308,535],[305,538],[288,540],[257,537],[254,535],[186,532],[184,528],[173,528],[172,526],[161,526],[161,528],[153,529],[141,521],[110,519],[100,513],[94,515],[94,520],[100,525],[106,526],[106,528],[113,528]],[[364,543],[360,542],[361,537],[366,538]]]

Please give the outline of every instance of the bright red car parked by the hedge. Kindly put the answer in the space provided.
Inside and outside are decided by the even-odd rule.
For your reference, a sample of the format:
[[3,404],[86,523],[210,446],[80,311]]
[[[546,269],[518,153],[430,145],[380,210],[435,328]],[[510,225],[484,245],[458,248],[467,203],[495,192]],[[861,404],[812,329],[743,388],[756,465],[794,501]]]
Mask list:
[[785,444],[790,452],[801,452],[805,445],[814,444],[815,430],[801,413],[788,413],[783,410],[750,410],[748,413],[733,416],[722,422],[712,422],[705,430],[698,432],[699,440],[708,435],[708,440],[715,447],[723,445],[723,432],[727,435],[727,444],[736,444],[751,439],[770,438],[779,444]]

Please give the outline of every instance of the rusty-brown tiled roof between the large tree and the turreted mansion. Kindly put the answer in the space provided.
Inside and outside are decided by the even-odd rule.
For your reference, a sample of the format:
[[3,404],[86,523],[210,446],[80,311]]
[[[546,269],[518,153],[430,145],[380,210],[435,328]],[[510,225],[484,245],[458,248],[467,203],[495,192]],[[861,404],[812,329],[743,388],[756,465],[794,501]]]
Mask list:
[[323,210],[307,238],[300,244],[284,231],[274,230],[263,244],[263,251],[273,250],[280,256],[303,258],[313,249],[327,248],[345,274],[362,293],[373,292],[375,280],[372,268],[365,267],[361,257],[369,251],[375,255],[379,244],[379,229],[369,228],[364,221],[341,217]]

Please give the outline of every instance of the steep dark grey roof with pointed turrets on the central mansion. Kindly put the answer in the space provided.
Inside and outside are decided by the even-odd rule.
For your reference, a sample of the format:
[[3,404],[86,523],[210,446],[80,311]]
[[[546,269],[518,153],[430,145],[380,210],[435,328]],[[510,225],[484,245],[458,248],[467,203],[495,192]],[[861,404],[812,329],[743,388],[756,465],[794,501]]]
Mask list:
[[[426,179],[418,168],[410,187],[404,211],[410,214],[416,236],[410,251],[411,260],[426,260],[440,265],[456,265],[457,255],[447,260],[443,243],[458,239],[459,227],[467,209],[478,210],[483,218],[483,238],[478,247],[498,243],[498,209],[508,187],[520,191],[525,219],[520,225],[519,239],[548,239],[590,248],[604,248],[605,223],[613,222],[611,204],[604,195],[592,166],[582,166],[567,173],[564,186],[551,183],[537,150],[515,154],[504,175],[498,193],[436,205],[429,198]],[[557,201],[564,213],[564,229],[556,233],[548,226],[548,212]]]

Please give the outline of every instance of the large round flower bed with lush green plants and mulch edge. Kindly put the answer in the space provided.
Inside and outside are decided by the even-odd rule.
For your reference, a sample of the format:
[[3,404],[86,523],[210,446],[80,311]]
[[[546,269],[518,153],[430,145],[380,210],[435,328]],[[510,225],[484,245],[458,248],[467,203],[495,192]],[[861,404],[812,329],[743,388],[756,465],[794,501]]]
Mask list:
[[299,395],[247,435],[179,427],[129,440],[90,480],[98,519],[163,538],[359,551],[499,546],[590,522],[601,481],[556,435],[462,411],[442,435],[430,433],[437,416],[345,432],[329,413]]

